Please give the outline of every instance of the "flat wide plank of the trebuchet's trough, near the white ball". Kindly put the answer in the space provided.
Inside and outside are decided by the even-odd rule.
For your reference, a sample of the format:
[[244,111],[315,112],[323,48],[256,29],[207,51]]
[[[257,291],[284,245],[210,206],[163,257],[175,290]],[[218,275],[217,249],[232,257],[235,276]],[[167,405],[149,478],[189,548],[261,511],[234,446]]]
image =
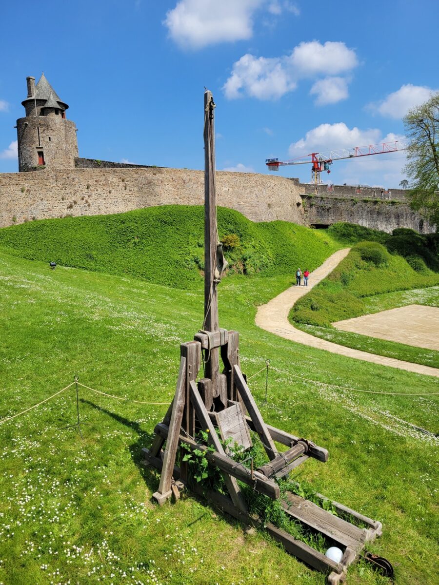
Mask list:
[[299,495],[287,493],[285,511],[293,518],[297,518],[311,528],[330,536],[334,541],[353,550],[363,548],[365,532],[346,522],[338,516],[323,510],[317,504],[301,498]]

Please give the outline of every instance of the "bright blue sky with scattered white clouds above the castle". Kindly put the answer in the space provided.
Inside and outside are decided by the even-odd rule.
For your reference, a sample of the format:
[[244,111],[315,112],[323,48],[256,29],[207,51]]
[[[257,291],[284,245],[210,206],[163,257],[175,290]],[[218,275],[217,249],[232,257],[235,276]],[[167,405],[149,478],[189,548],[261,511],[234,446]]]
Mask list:
[[[0,172],[16,172],[26,76],[69,104],[80,156],[203,168],[203,92],[217,168],[404,136],[439,88],[436,0],[76,0],[5,3]],[[397,187],[404,153],[339,161],[325,182]],[[310,180],[310,167],[279,175]]]

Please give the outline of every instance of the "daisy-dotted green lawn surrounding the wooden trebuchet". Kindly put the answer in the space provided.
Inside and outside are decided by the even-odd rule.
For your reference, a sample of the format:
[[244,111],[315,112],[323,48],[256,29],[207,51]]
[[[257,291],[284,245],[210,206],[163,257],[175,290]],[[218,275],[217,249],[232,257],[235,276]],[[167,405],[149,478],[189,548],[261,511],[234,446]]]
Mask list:
[[[76,373],[111,394],[169,402],[179,343],[201,325],[201,287],[181,291],[64,267],[50,271],[46,263],[2,252],[0,276],[2,418],[66,386]],[[308,461],[300,477],[383,522],[371,549],[391,560],[397,583],[433,585],[434,446],[393,417],[434,430],[437,397],[399,394],[437,392],[439,384],[256,328],[255,307],[290,281],[234,276],[221,283],[221,325],[241,333],[243,370],[251,376],[272,359],[268,405],[264,377],[251,381],[263,416],[330,450],[327,464]],[[355,393],[289,374],[398,395]],[[323,585],[322,575],[262,535],[243,536],[238,524],[201,501],[150,504],[158,479],[139,466],[140,449],[166,406],[80,393],[81,417],[91,424],[84,441],[64,429],[76,417],[72,392],[0,426],[1,582]],[[383,581],[359,563],[349,583]]]

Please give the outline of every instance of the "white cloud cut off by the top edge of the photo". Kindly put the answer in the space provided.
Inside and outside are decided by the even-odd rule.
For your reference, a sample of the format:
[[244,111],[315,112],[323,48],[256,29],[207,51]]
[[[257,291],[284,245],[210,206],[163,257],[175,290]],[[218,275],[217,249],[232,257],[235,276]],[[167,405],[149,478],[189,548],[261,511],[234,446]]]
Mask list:
[[253,14],[263,0],[180,0],[166,13],[163,24],[181,47],[201,49],[208,44],[250,39]]

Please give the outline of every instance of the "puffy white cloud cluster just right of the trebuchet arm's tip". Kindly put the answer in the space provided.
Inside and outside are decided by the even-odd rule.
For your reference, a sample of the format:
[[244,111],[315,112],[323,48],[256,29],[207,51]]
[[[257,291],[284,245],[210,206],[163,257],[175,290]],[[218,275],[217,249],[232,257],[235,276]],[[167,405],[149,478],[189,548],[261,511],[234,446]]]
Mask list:
[[[290,54],[282,57],[243,55],[233,64],[232,73],[222,89],[229,99],[244,94],[258,99],[278,99],[294,91],[300,79],[317,77],[323,73],[347,73],[357,64],[355,51],[348,49],[344,43],[300,43]],[[323,91],[319,90],[317,82],[313,93],[319,95],[317,102],[320,105],[333,104],[348,97],[347,80],[329,77],[320,82],[321,85],[326,84],[327,94],[331,98],[331,101],[324,101],[324,97],[320,96]]]

